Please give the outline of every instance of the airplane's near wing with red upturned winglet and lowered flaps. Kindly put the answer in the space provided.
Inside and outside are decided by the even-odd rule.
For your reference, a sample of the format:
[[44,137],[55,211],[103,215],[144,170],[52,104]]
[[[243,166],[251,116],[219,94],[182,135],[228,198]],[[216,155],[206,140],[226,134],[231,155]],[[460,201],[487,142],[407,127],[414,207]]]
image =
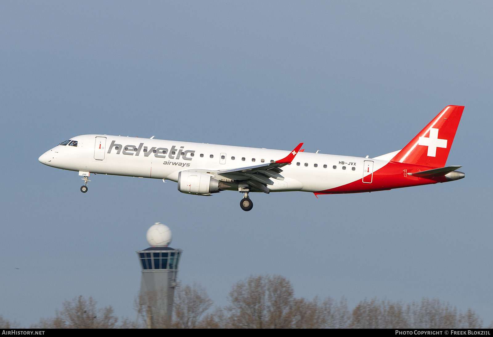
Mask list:
[[[231,179],[232,181],[247,185],[246,187],[253,190],[259,190],[264,193],[269,193],[270,190],[267,185],[273,185],[274,181],[271,178],[284,180],[284,177],[280,174],[282,167],[291,164],[296,154],[301,149],[303,143],[299,143],[293,151],[286,157],[272,161],[269,164],[261,164],[254,166],[247,166],[245,168],[237,169],[220,169],[220,170],[206,170],[207,173],[213,173],[217,178]],[[204,171],[203,169],[192,169],[192,171]]]

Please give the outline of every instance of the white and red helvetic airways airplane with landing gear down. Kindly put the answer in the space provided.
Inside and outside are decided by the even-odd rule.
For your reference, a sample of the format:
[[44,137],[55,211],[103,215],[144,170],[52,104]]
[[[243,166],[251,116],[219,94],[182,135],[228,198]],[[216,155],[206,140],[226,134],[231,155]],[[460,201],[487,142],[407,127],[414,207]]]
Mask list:
[[240,207],[249,211],[250,192],[304,191],[318,195],[390,190],[462,179],[460,166],[445,166],[463,106],[446,106],[403,149],[375,158],[173,140],[79,135],[39,157],[58,169],[78,171],[86,193],[90,173],[172,180],[178,191],[210,196],[243,193]]

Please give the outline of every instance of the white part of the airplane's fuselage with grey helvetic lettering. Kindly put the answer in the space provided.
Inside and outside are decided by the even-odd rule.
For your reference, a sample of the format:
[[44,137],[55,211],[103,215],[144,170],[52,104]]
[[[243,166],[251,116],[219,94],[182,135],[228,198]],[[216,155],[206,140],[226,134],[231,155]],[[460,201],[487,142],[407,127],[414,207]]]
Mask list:
[[[178,172],[183,170],[245,168],[289,154],[284,150],[111,135],[80,135],[71,140],[77,141],[77,146],[58,145],[39,161],[59,169],[177,181]],[[365,160],[374,163],[373,172],[388,163],[299,152],[290,165],[282,167],[284,180],[272,179],[274,184],[268,188],[272,192],[316,192],[346,185],[367,174],[363,172]]]

